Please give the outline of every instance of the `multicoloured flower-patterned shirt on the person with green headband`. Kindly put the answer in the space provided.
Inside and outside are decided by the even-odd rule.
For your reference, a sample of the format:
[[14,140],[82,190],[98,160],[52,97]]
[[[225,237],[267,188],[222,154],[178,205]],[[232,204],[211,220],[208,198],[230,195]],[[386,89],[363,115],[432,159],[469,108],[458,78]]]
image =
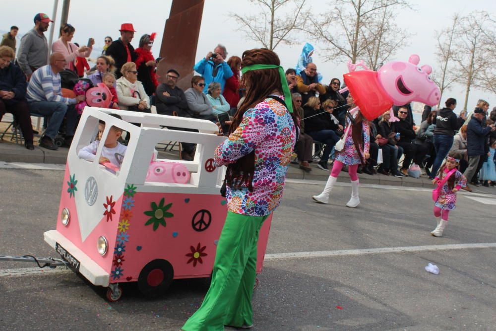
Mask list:
[[[279,98],[284,100],[283,96]],[[254,150],[253,192],[227,185],[228,209],[237,214],[265,216],[281,201],[286,171],[296,141],[296,127],[280,102],[266,98],[248,109],[235,132],[215,150],[215,165],[235,163]]]

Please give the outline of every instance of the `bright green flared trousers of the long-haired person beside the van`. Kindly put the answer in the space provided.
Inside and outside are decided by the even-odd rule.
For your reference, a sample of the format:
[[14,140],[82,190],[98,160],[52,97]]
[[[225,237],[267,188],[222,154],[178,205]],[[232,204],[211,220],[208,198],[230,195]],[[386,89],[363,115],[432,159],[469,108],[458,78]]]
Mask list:
[[184,331],[224,331],[224,325],[253,324],[251,297],[256,277],[258,232],[267,216],[228,211],[212,271],[212,282],[200,308]]

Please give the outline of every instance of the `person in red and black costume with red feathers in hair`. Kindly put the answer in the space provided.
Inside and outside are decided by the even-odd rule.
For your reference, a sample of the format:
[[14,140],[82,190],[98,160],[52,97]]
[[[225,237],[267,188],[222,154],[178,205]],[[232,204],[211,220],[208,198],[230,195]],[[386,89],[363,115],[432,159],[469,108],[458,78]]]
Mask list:
[[138,80],[143,83],[146,95],[152,96],[158,86],[155,67],[157,62],[152,55],[151,49],[156,33],[144,34],[139,38],[139,47],[134,50],[136,53],[136,68],[138,69]]

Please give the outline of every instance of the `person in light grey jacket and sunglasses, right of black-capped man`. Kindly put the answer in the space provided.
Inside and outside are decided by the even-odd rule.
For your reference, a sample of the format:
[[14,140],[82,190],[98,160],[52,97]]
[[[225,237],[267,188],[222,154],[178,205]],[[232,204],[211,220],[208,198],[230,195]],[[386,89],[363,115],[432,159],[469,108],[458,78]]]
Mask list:
[[202,76],[193,76],[191,78],[191,87],[185,92],[187,107],[193,118],[216,122],[212,104],[203,93],[204,88],[205,78]]

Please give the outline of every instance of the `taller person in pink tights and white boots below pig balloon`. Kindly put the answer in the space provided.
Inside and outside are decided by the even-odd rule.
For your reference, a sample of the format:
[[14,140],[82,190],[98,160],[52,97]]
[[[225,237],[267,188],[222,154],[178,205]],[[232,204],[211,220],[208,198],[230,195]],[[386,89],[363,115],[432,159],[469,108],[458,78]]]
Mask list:
[[[346,98],[348,105],[351,109],[355,107],[353,103],[353,97],[348,94]],[[343,169],[343,165],[348,166],[348,174],[351,180],[351,199],[346,203],[347,207],[355,208],[359,205],[360,199],[358,196],[358,175],[357,169],[359,164],[365,165],[365,160],[370,157],[369,147],[370,147],[370,134],[369,134],[369,122],[365,119],[360,111],[357,112],[355,116],[355,123],[351,127],[351,132],[348,132],[346,136],[344,148],[337,152],[336,159],[332,165],[332,170],[325,184],[324,191],[318,196],[313,196],[318,203],[329,203],[329,193],[331,192],[334,184],[338,179],[338,175]],[[350,119],[346,119],[347,125],[350,125]]]

